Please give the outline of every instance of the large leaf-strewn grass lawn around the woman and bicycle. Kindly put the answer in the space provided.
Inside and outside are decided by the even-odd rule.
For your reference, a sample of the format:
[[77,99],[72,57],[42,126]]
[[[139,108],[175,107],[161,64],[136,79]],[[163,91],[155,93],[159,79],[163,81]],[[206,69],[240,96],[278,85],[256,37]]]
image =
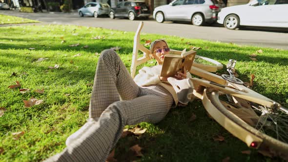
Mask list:
[[[111,47],[122,47],[118,53],[130,69],[133,32],[106,30],[70,25],[1,27],[0,35],[0,161],[42,161],[61,152],[66,138],[78,130],[88,118],[88,105],[98,61],[98,53]],[[135,29],[136,31],[136,29]],[[100,36],[103,39],[91,39]],[[183,39],[175,36],[142,33],[146,40],[164,38],[170,48],[183,50],[202,47],[198,55],[224,65],[237,60],[239,77],[249,82],[255,75],[253,89],[288,107],[288,51],[231,43]],[[69,45],[77,44],[78,46]],[[88,47],[87,47],[87,46]],[[86,47],[86,48],[85,48]],[[262,49],[262,53],[256,52]],[[258,61],[249,58],[257,54]],[[42,58],[42,59],[40,59]],[[39,60],[40,59],[40,60]],[[59,65],[59,68],[48,68]],[[146,65],[154,65],[148,62]],[[57,66],[56,66],[57,67]],[[219,73],[226,73],[225,69]],[[19,81],[21,87],[10,89]],[[20,88],[30,89],[21,93]],[[37,90],[44,90],[38,93]],[[39,105],[24,107],[31,97],[43,100]],[[196,120],[190,121],[192,114]],[[127,136],[119,141],[115,158],[153,162],[270,162],[267,158],[233,137],[216,121],[209,118],[201,101],[171,109],[158,124],[141,123],[147,131],[140,137]],[[22,132],[22,135],[13,133]],[[213,137],[223,136],[224,141]],[[142,158],[132,156],[129,148],[142,147]]]

